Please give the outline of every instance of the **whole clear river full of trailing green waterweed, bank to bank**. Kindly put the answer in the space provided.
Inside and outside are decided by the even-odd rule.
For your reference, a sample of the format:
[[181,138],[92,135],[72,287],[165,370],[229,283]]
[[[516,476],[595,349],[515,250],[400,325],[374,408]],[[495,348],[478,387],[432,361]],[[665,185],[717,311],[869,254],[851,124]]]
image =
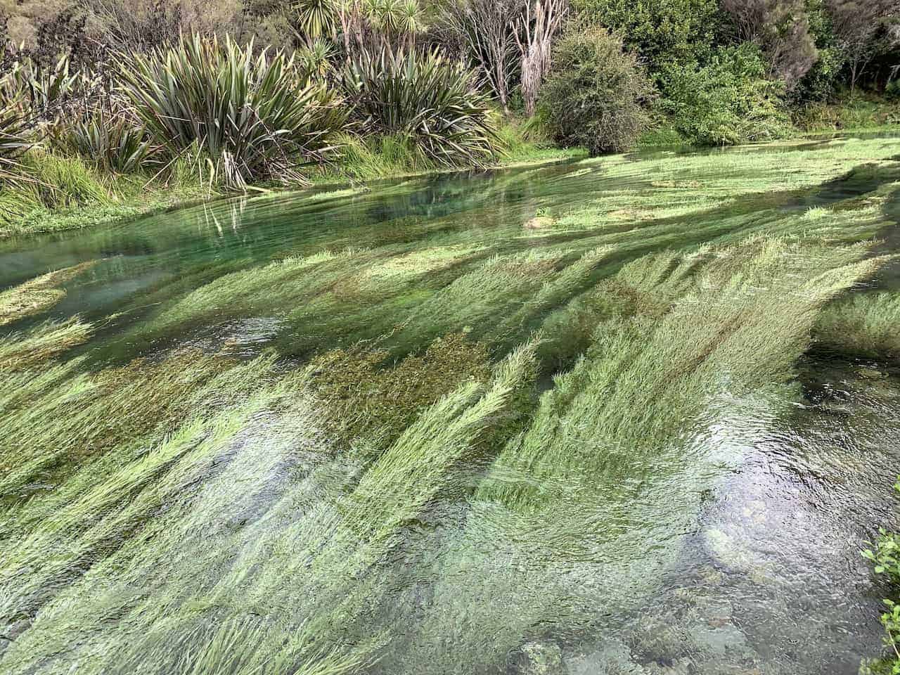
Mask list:
[[0,243],[0,671],[855,673],[900,143]]

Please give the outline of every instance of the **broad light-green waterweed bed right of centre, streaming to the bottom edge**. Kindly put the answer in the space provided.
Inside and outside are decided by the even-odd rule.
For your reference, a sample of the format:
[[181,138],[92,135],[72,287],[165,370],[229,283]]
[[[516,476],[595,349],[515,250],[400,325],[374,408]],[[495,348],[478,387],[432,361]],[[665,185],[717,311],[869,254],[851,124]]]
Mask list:
[[[615,616],[642,602],[677,560],[674,533],[696,522],[700,486],[734,462],[717,456],[707,429],[742,394],[788,393],[779,386],[819,308],[884,262],[860,260],[866,250],[807,254],[757,239],[623,268],[618,284],[660,294],[648,304],[669,309],[648,316],[626,304],[599,320],[581,361],[555,378],[476,489],[428,615],[404,641],[417,646],[398,644],[387,671],[500,668],[544,622],[554,635],[590,632],[590,608]],[[486,594],[491,602],[478,601]],[[491,641],[477,637],[484,626]]]

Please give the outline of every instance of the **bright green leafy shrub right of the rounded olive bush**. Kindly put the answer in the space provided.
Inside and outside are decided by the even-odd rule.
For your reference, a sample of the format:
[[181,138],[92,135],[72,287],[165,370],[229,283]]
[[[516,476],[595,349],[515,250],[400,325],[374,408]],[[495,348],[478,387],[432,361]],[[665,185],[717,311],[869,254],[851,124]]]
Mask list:
[[662,112],[698,145],[772,140],[788,132],[784,83],[766,77],[760,49],[749,42],[719,49],[704,67],[667,67]]

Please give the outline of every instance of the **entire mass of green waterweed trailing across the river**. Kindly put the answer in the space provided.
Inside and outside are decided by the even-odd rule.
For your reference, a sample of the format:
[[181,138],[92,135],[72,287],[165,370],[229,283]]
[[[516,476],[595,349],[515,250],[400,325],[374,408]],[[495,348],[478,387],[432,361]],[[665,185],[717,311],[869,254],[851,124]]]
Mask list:
[[[796,402],[814,326],[886,262],[871,238],[891,221],[887,161],[815,217],[815,185],[727,194],[888,152],[845,145],[815,150],[825,168],[781,148],[735,175],[707,157],[600,160],[626,183],[659,174],[639,187],[663,211],[637,220],[576,212],[617,192],[602,164],[501,176],[487,206],[388,221],[383,241],[352,221],[275,262],[204,266],[88,343],[148,338],[146,358],[50,350],[0,369],[0,631],[15,635],[0,670],[496,671],[527,641],[604,635],[653,597],[702,494],[739,464],[744,401]],[[722,184],[696,212],[695,179]],[[308,207],[328,228],[332,208],[350,220],[342,203]],[[184,347],[272,317],[277,355]]]

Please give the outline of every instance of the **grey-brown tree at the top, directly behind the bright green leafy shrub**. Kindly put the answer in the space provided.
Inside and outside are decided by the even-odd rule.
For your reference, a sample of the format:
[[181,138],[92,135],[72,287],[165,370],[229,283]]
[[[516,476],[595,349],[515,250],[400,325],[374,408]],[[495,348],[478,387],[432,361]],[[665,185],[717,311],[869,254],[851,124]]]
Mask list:
[[818,58],[804,0],[723,0],[737,37],[754,42],[770,64],[770,76],[793,89]]

